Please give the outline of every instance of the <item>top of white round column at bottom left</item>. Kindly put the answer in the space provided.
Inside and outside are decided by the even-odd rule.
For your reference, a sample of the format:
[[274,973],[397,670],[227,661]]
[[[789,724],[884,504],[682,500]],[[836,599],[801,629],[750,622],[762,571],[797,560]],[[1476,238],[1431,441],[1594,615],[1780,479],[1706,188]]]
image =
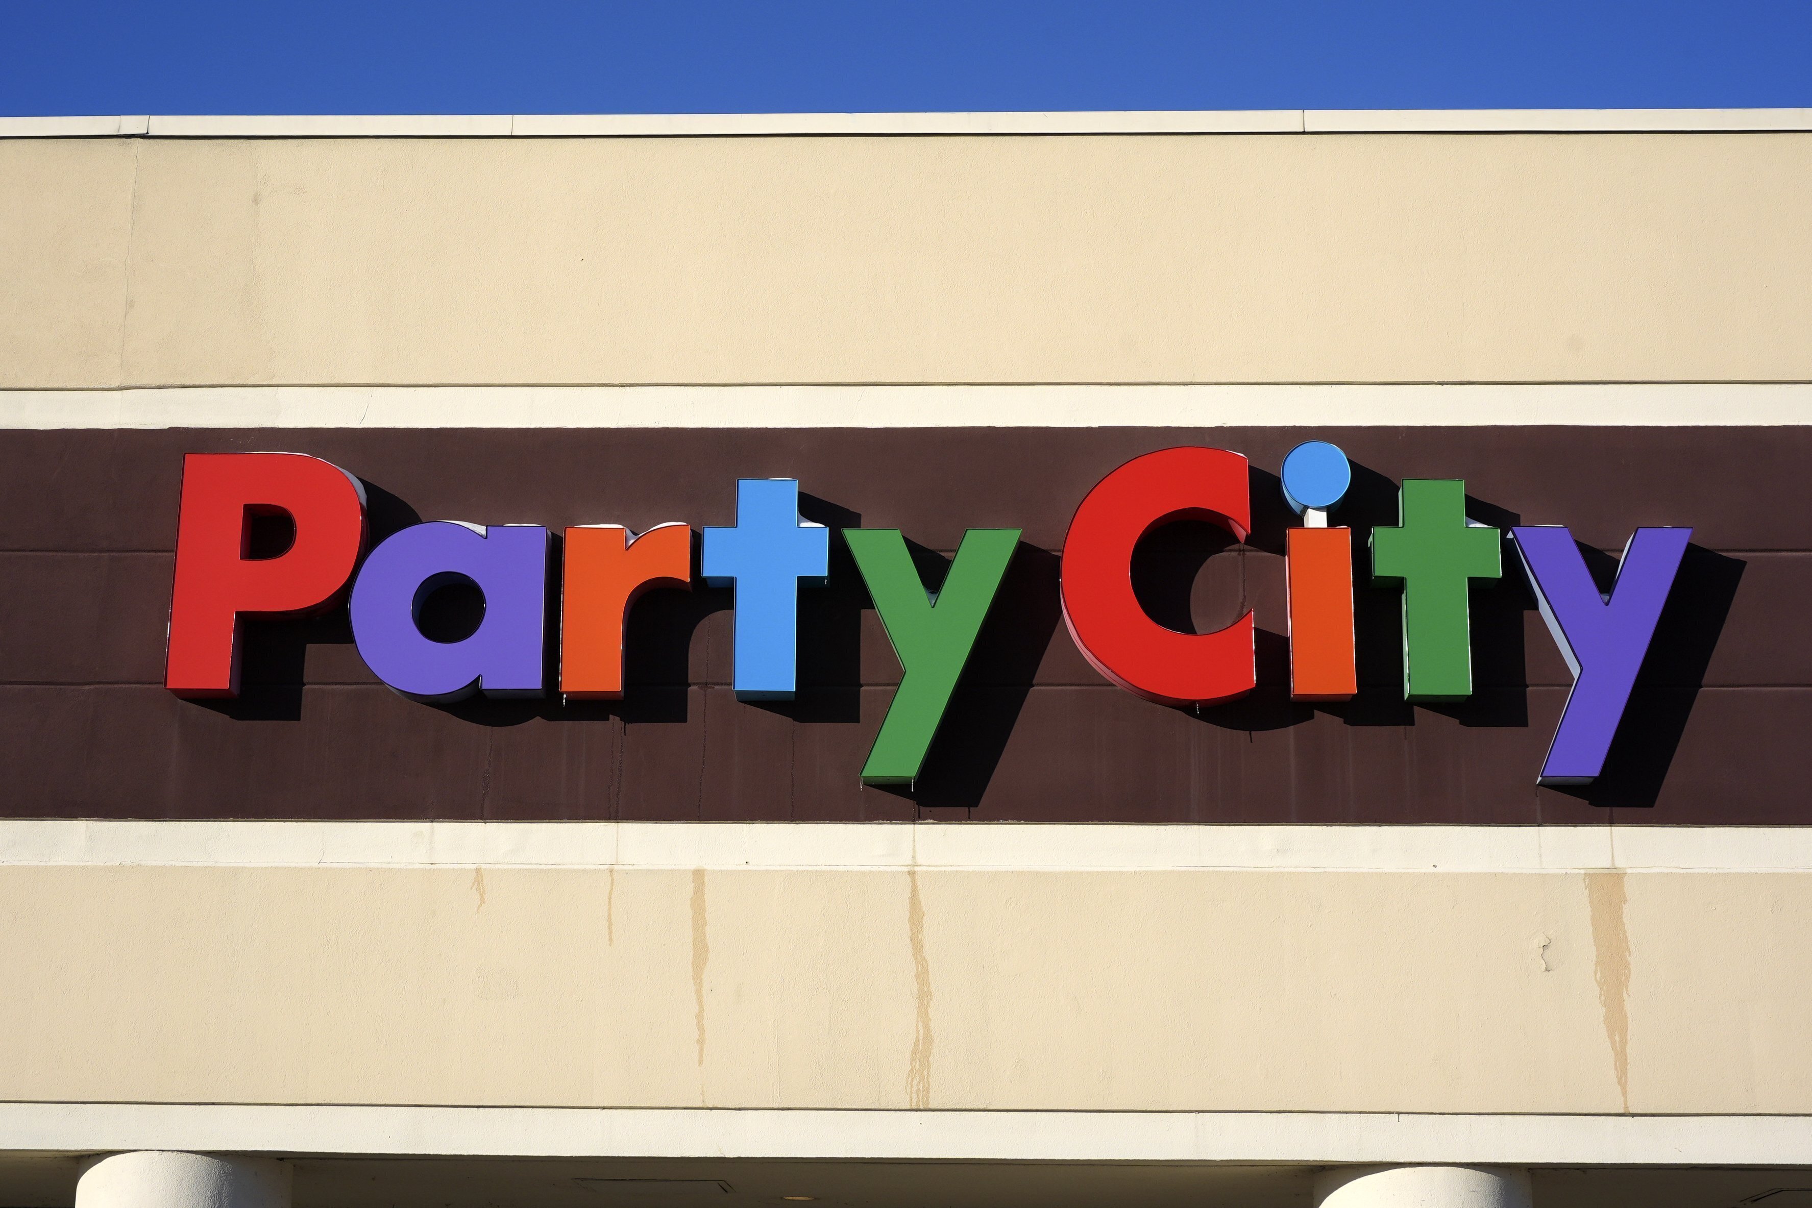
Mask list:
[[82,1168],[76,1208],[290,1208],[290,1165],[169,1150],[109,1154]]

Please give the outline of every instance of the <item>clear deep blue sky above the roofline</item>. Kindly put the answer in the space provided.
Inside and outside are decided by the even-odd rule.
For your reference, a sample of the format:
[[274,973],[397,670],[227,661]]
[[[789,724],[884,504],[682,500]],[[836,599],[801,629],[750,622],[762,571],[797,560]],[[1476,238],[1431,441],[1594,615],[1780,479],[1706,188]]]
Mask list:
[[0,114],[1812,105],[1812,0],[0,0]]

